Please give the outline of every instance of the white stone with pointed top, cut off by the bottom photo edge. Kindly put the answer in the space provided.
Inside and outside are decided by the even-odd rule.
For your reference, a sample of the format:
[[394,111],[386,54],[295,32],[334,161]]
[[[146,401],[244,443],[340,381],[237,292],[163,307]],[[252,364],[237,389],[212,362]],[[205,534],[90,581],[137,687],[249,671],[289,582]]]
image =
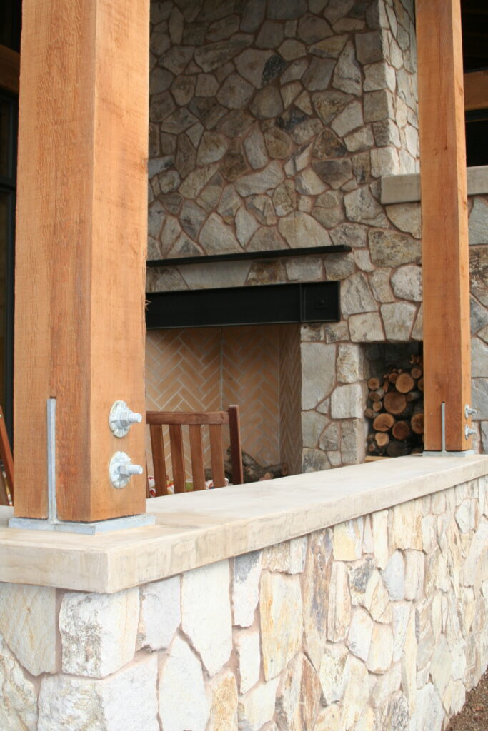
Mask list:
[[160,670],[158,696],[159,718],[165,731],[206,730],[210,704],[202,666],[179,635]]

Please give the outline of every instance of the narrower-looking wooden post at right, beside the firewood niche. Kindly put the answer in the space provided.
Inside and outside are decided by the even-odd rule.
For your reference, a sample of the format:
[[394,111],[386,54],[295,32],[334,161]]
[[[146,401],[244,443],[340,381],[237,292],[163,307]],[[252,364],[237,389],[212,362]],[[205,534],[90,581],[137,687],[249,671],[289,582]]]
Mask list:
[[425,449],[467,450],[470,304],[460,0],[416,0]]

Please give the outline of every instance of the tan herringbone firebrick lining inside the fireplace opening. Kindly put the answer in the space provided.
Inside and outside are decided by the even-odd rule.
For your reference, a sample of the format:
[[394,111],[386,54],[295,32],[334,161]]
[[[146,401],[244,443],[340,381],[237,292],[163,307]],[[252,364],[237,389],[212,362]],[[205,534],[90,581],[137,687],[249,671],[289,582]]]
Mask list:
[[[281,327],[205,327],[185,330],[151,330],[146,339],[146,408],[148,411],[209,411],[239,404],[241,409],[242,447],[261,464],[279,462],[281,442],[290,452],[296,439],[296,418],[299,419],[297,390],[293,395],[296,371],[300,368],[299,351],[285,338],[287,366],[280,369]],[[298,328],[297,338],[298,336]],[[298,341],[299,344],[299,341]],[[292,371],[289,373],[288,371]],[[280,379],[285,394],[280,397]],[[286,404],[280,398],[285,395]],[[297,401],[298,399],[298,401]],[[297,416],[293,425],[283,419],[293,409]],[[184,434],[187,469],[189,443]],[[224,439],[228,433],[224,431]],[[166,444],[168,442],[168,444]],[[228,441],[225,443],[225,448]],[[204,442],[207,466],[210,466],[209,444]],[[148,466],[152,472],[149,429],[147,436]],[[168,475],[171,475],[169,438],[165,436]],[[287,452],[287,453],[288,453]],[[290,457],[288,457],[291,466]]]

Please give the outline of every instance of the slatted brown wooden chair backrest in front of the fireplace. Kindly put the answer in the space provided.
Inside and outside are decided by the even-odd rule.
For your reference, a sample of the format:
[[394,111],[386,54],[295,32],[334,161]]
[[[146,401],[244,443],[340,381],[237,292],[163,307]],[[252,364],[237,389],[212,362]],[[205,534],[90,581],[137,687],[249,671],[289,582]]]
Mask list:
[[183,431],[189,427],[189,446],[192,463],[192,482],[194,490],[205,490],[205,461],[203,458],[202,427],[209,427],[211,473],[215,488],[225,486],[224,447],[222,426],[228,425],[230,432],[230,463],[232,482],[244,482],[241,454],[241,428],[239,406],[229,406],[228,411],[220,412],[147,412],[146,422],[151,431],[151,448],[154,464],[154,481],[157,495],[168,495],[166,478],[165,447],[162,427],[168,425],[170,432],[171,463],[176,493],[184,493],[186,475],[184,469]]

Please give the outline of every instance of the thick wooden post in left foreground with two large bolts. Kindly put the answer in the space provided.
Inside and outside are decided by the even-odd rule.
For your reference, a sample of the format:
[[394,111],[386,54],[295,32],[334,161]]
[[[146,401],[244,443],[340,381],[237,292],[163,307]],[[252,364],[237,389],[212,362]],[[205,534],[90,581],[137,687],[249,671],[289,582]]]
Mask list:
[[149,0],[23,0],[15,273],[15,515],[46,518],[46,402],[56,398],[61,520],[145,511]]

